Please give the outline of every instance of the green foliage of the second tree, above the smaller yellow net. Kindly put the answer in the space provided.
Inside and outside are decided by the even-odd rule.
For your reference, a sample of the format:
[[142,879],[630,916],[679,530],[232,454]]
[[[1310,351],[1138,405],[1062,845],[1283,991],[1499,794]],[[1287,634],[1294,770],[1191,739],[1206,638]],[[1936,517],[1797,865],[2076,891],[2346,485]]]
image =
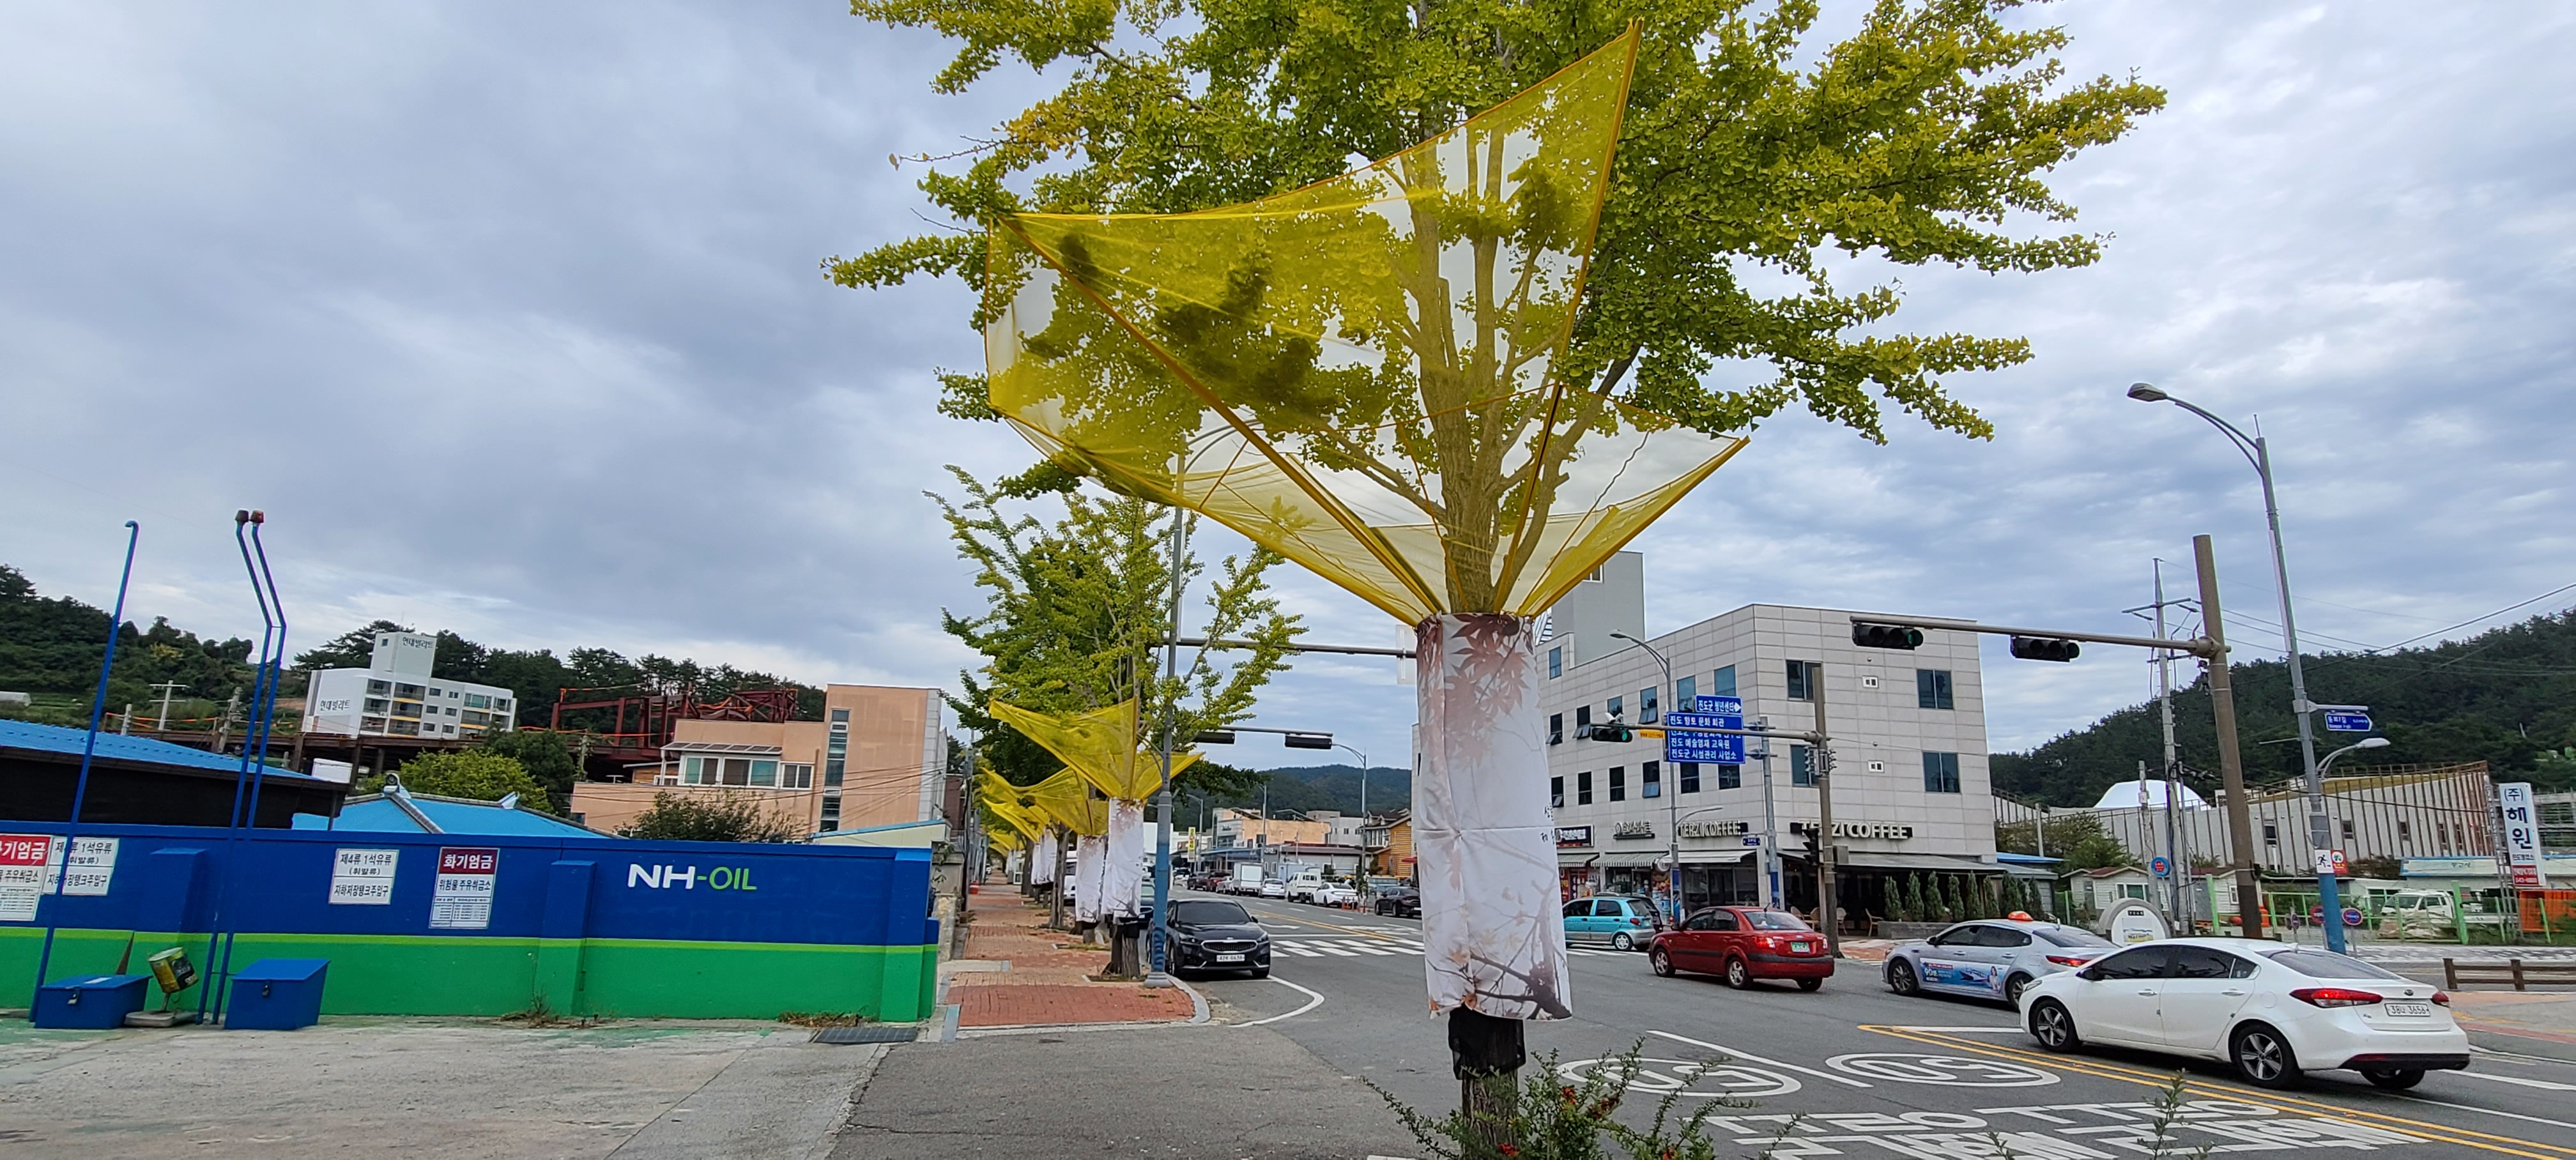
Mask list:
[[[1162,639],[1170,624],[1170,518],[1133,498],[1061,498],[1064,518],[1041,526],[1036,516],[1002,510],[1002,492],[951,467],[966,498],[940,495],[951,539],[974,565],[984,611],[940,614],[940,626],[984,655],[976,673],[961,673],[963,696],[951,696],[958,722],[981,735],[979,755],[1012,784],[1030,784],[1061,768],[1046,750],[997,722],[989,701],[1038,711],[1103,709],[1141,699],[1149,742],[1164,711],[1188,745],[1252,714],[1255,691],[1288,668],[1298,621],[1278,608],[1262,575],[1278,557],[1255,549],[1226,557],[1190,632],[1203,639],[1249,642],[1249,650],[1182,652],[1180,673],[1164,678]],[[1193,521],[1195,523],[1195,521]],[[1188,577],[1203,565],[1182,557]],[[1242,794],[1257,776],[1226,766],[1190,768],[1182,784],[1213,794]]]

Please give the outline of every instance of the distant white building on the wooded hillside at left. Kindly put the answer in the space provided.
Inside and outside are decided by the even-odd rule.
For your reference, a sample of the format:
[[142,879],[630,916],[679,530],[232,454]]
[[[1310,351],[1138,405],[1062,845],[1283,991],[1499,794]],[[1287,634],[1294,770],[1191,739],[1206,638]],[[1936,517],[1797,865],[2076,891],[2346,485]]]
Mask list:
[[379,632],[366,668],[325,668],[304,691],[304,732],[474,740],[518,727],[518,693],[438,681],[438,637]]

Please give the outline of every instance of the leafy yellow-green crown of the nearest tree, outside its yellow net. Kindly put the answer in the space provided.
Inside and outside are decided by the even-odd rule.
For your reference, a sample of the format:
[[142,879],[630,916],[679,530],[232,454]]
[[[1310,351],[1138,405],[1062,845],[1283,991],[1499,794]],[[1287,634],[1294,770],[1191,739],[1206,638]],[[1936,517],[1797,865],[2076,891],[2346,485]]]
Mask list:
[[[2043,175],[2164,106],[2136,80],[2063,82],[2063,31],[2012,28],[2009,8],[1880,0],[1816,54],[1811,0],[853,3],[961,41],[940,93],[1005,57],[1064,77],[953,155],[963,170],[914,157],[922,193],[969,227],[1298,188],[1430,139],[1643,21],[1613,193],[1556,374],[1710,433],[1803,405],[1873,441],[1886,438],[1880,400],[1991,436],[1942,376],[2012,366],[2030,348],[1899,333],[1896,278],[1868,284],[1842,258],[1989,273],[2094,263],[2099,237],[2020,237],[2004,222],[2069,222],[2074,206]],[[842,286],[951,273],[981,286],[984,237],[933,232],[824,266]],[[1767,379],[1710,376],[1739,361],[1770,363]],[[943,382],[943,412],[994,418],[981,376]],[[1025,479],[1066,482],[1056,467]]]

